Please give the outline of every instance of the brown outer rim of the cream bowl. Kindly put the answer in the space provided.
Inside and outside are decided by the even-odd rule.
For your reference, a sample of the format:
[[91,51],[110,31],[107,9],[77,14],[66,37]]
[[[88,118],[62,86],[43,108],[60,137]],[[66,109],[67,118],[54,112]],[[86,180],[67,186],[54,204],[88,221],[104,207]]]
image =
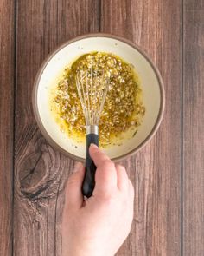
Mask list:
[[79,156],[71,154],[70,152],[68,152],[64,148],[61,148],[61,146],[58,145],[50,135],[48,135],[48,132],[47,132],[46,128],[44,128],[44,126],[42,124],[39,109],[38,109],[38,106],[37,106],[37,92],[38,92],[39,82],[40,82],[40,79],[41,79],[41,74],[43,73],[44,69],[46,68],[46,66],[48,65],[48,62],[52,59],[52,57],[58,51],[60,51],[64,47],[66,47],[68,44],[74,43],[74,42],[79,41],[81,39],[90,38],[90,37],[106,37],[106,38],[117,39],[118,41],[123,42],[123,43],[127,43],[132,48],[137,49],[137,51],[140,54],[143,55],[143,57],[146,59],[146,61],[150,63],[150,66],[154,70],[154,72],[156,74],[157,81],[159,83],[161,102],[160,102],[159,113],[157,115],[155,125],[151,129],[150,134],[136,148],[132,149],[130,152],[128,152],[126,154],[123,154],[121,156],[112,158],[112,161],[122,161],[125,158],[130,157],[133,154],[136,154],[139,150],[141,150],[153,138],[154,135],[156,135],[156,132],[157,132],[162,120],[163,120],[163,112],[164,112],[164,106],[165,106],[165,91],[164,91],[164,86],[163,86],[163,79],[162,79],[162,76],[160,75],[159,70],[156,68],[155,63],[143,51],[143,49],[141,49],[136,43],[132,43],[130,40],[128,40],[126,38],[123,38],[121,36],[112,35],[112,34],[107,34],[107,33],[100,33],[100,32],[98,32],[98,33],[87,33],[85,35],[76,36],[73,39],[68,40],[65,43],[62,43],[60,46],[58,46],[56,49],[54,49],[54,51],[52,51],[45,58],[45,60],[41,63],[41,67],[38,69],[38,72],[35,75],[34,87],[33,87],[33,91],[32,91],[32,106],[33,106],[33,112],[34,112],[34,115],[35,115],[35,121],[37,122],[37,125],[41,130],[41,134],[45,137],[45,139],[48,141],[48,143],[52,147],[59,150],[62,154],[65,154],[66,156],[72,158],[74,161],[85,161],[84,158],[81,158]]

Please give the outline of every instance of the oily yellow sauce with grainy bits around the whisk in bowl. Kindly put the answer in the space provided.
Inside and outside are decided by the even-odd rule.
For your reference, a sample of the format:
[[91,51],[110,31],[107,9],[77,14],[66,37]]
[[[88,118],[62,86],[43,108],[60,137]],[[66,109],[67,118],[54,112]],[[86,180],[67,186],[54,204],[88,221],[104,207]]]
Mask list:
[[81,107],[76,75],[83,70],[103,70],[108,76],[108,92],[99,119],[99,142],[105,147],[117,143],[117,138],[132,128],[133,135],[141,124],[145,108],[139,78],[131,64],[105,52],[92,52],[80,56],[64,70],[51,96],[51,110],[61,130],[75,141],[86,135],[86,123]]

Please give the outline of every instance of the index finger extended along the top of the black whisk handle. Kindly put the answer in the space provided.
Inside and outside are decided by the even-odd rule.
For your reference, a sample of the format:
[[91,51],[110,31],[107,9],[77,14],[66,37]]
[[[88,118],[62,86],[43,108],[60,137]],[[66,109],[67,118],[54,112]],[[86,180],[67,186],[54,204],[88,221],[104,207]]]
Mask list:
[[90,155],[97,166],[93,194],[112,194],[117,188],[117,172],[114,163],[97,146],[90,147]]

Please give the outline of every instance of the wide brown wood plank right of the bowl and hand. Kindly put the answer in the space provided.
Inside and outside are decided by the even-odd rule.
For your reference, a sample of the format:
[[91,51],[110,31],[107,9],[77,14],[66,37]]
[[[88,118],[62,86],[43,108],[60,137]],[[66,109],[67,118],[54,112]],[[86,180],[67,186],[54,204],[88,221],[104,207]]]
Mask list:
[[181,255],[181,1],[101,1],[101,31],[129,38],[163,76],[166,110],[156,137],[124,161],[136,190],[131,234],[119,256]]

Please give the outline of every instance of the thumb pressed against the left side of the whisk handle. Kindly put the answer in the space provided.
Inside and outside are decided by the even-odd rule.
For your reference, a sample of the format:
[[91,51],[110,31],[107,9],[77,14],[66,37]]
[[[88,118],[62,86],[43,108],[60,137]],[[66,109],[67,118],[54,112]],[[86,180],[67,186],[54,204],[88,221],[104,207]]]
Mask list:
[[81,162],[77,162],[73,169],[73,174],[71,174],[67,181],[65,206],[68,209],[80,209],[83,204],[81,186],[84,174],[85,167]]

